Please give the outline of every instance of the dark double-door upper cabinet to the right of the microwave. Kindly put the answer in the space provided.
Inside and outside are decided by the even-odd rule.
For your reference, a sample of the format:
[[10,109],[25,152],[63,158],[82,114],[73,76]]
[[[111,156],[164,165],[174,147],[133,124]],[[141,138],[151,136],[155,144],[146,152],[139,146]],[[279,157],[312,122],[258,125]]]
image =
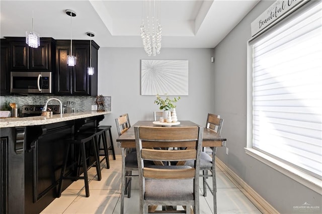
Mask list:
[[90,66],[90,41],[72,40],[72,55],[76,56],[76,65],[67,65],[70,54],[70,40],[56,40],[56,92],[57,95],[97,95],[98,49],[92,41],[92,66],[94,75],[88,75]]

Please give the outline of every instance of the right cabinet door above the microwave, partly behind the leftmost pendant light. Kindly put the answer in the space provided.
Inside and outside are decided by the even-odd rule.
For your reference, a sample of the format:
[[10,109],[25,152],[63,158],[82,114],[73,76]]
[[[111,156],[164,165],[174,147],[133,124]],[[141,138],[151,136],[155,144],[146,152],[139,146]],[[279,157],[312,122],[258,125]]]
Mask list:
[[48,62],[51,61],[51,44],[40,41],[38,48],[30,48],[30,70],[51,71]]

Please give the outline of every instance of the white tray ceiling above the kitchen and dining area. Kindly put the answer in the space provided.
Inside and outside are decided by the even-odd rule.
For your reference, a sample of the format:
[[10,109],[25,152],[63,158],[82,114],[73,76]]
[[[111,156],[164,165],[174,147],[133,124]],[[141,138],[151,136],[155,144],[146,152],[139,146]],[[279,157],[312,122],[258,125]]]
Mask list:
[[[1,38],[25,37],[34,31],[40,37],[90,39],[100,47],[143,47],[140,37],[142,2],[135,0],[13,1],[1,0]],[[214,48],[259,0],[161,0],[162,47]]]

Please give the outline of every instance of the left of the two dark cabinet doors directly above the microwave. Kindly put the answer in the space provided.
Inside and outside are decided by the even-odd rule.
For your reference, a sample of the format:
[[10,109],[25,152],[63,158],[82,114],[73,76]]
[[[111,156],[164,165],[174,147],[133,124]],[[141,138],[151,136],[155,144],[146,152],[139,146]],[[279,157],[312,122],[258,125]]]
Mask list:
[[12,71],[29,70],[29,46],[23,41],[11,43]]

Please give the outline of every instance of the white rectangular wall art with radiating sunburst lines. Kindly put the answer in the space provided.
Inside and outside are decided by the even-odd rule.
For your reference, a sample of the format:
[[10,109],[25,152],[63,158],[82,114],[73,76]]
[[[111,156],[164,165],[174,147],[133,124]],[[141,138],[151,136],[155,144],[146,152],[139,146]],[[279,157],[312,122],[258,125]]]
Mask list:
[[141,95],[188,95],[188,60],[141,60]]

